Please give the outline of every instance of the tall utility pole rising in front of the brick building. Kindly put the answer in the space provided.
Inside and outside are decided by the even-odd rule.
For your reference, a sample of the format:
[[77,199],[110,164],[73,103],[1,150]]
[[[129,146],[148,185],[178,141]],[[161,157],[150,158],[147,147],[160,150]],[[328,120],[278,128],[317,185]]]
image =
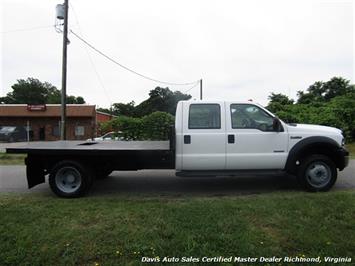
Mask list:
[[61,127],[60,139],[66,140],[67,120],[67,45],[68,45],[68,9],[69,0],[64,0],[64,31],[63,31],[63,61],[62,61],[62,97],[61,97]]

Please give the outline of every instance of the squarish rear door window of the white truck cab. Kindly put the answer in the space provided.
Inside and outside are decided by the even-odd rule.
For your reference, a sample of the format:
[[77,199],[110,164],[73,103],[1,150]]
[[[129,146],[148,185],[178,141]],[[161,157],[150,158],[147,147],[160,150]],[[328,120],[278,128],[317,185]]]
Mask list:
[[191,104],[189,129],[221,128],[221,107],[219,104]]

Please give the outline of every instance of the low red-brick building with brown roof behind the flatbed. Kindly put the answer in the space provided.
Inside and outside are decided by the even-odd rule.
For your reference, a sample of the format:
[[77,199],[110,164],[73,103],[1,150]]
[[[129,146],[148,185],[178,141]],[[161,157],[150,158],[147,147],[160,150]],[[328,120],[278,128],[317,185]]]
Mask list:
[[[32,140],[60,139],[60,104],[0,104],[1,126],[30,127]],[[95,105],[67,104],[67,139],[95,136]]]

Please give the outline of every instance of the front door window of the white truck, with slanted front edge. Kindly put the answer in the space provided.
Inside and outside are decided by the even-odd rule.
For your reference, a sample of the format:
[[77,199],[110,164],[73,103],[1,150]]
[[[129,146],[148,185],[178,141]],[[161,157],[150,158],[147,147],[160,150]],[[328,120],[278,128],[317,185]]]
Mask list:
[[273,117],[252,104],[231,105],[232,128],[273,131]]

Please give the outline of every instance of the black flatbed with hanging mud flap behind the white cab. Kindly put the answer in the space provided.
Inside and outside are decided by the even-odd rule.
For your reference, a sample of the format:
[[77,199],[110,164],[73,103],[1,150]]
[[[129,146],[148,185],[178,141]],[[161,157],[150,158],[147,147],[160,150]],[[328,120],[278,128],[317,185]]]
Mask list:
[[[64,169],[63,174],[71,172],[68,177],[71,179],[80,175],[80,180],[86,182],[82,187],[84,191],[91,186],[94,177],[105,177],[114,170],[175,168],[175,150],[170,141],[28,142],[8,147],[6,152],[27,154],[29,188],[45,182],[45,175],[56,173],[58,169]],[[73,182],[70,180],[61,180],[61,186]],[[70,189],[75,184],[68,186]]]

